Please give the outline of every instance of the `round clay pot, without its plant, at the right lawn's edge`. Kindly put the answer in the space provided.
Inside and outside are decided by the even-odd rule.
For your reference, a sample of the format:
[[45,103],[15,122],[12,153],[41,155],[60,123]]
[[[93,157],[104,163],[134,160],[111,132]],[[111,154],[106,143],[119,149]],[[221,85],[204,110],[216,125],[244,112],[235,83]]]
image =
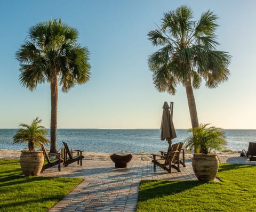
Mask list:
[[217,154],[193,154],[192,167],[198,180],[212,181],[217,175],[219,159]]

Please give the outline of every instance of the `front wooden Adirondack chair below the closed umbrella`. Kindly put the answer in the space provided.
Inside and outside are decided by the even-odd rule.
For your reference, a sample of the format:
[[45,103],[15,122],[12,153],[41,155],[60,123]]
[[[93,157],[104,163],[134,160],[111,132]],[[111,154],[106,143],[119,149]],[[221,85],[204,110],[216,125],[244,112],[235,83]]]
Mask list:
[[[180,162],[178,160],[178,164],[176,166],[175,160],[179,156],[179,143],[173,144],[169,146],[166,155],[162,154],[152,154],[153,155],[153,164],[154,164],[154,172],[156,172],[156,166],[159,166],[166,170],[169,173],[172,173],[172,168],[176,169],[180,172]],[[157,159],[158,157],[158,159]]]

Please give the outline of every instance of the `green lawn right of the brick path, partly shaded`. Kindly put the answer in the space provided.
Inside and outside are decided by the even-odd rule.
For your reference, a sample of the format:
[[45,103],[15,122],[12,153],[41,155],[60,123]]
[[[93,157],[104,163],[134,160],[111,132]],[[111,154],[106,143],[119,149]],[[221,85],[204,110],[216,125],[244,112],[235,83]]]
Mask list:
[[221,182],[142,181],[137,211],[256,211],[256,166],[220,164]]

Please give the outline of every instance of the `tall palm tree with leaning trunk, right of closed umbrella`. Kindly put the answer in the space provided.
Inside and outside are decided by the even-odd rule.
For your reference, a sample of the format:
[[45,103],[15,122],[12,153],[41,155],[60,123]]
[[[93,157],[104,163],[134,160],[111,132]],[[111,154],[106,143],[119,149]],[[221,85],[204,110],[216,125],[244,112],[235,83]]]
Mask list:
[[164,13],[161,27],[148,33],[154,46],[162,46],[148,58],[155,87],[174,95],[178,84],[185,86],[192,128],[198,126],[193,88],[199,88],[203,80],[206,87],[215,88],[230,75],[231,56],[216,50],[217,19],[207,11],[194,21],[191,9],[180,6]]

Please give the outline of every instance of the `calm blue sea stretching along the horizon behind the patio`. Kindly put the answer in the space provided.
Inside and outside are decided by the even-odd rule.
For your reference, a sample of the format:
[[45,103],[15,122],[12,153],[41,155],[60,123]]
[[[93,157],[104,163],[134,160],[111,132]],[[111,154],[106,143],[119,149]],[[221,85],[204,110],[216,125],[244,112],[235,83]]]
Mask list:
[[[12,136],[17,129],[0,129],[0,149],[25,149],[27,144],[13,144]],[[225,130],[227,149],[247,149],[250,141],[256,141],[256,130]],[[173,143],[182,142],[189,135],[187,129],[177,129]],[[160,129],[58,129],[57,148],[62,141],[72,149],[85,152],[158,152],[168,144],[160,139]],[[50,140],[49,136],[47,136]],[[50,148],[50,146],[48,146]]]

